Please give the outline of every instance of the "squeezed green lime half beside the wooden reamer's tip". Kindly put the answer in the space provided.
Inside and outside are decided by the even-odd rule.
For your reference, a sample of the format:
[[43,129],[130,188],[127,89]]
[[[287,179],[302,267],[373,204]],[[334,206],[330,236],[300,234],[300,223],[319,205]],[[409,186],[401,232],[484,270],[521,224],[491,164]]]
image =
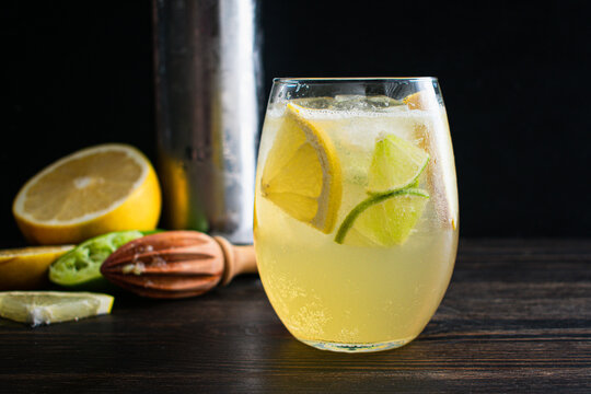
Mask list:
[[[143,236],[143,232],[116,231],[84,241],[49,266],[49,280],[67,287],[96,288],[107,281],[101,265],[117,248]],[[99,282],[99,283],[97,283]]]

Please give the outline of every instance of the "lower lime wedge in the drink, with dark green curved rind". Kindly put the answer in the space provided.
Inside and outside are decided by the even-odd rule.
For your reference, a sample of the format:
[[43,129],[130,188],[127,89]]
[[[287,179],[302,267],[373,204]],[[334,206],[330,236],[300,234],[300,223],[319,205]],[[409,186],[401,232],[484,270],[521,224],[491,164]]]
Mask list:
[[352,246],[403,244],[417,224],[429,195],[406,188],[370,196],[347,215],[335,241]]

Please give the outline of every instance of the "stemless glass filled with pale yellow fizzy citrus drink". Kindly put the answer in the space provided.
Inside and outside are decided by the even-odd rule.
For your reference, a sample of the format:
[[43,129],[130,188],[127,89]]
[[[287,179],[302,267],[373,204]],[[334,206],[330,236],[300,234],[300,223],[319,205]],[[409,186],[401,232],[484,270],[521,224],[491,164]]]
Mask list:
[[437,79],[274,80],[254,239],[296,338],[350,352],[413,340],[448,288],[457,224]]

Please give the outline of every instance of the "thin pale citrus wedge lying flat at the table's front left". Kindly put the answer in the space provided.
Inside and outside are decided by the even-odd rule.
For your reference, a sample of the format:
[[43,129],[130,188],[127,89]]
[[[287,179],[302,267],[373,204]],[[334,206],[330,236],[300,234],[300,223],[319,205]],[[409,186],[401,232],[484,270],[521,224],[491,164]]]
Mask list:
[[113,297],[89,292],[0,292],[0,316],[33,326],[111,312]]

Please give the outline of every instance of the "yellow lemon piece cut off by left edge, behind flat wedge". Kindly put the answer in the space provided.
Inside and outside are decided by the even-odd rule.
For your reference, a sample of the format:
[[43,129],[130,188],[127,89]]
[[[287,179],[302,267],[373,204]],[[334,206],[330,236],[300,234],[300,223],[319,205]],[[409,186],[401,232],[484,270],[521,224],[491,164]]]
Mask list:
[[0,251],[0,290],[36,289],[47,281],[49,265],[73,245]]

